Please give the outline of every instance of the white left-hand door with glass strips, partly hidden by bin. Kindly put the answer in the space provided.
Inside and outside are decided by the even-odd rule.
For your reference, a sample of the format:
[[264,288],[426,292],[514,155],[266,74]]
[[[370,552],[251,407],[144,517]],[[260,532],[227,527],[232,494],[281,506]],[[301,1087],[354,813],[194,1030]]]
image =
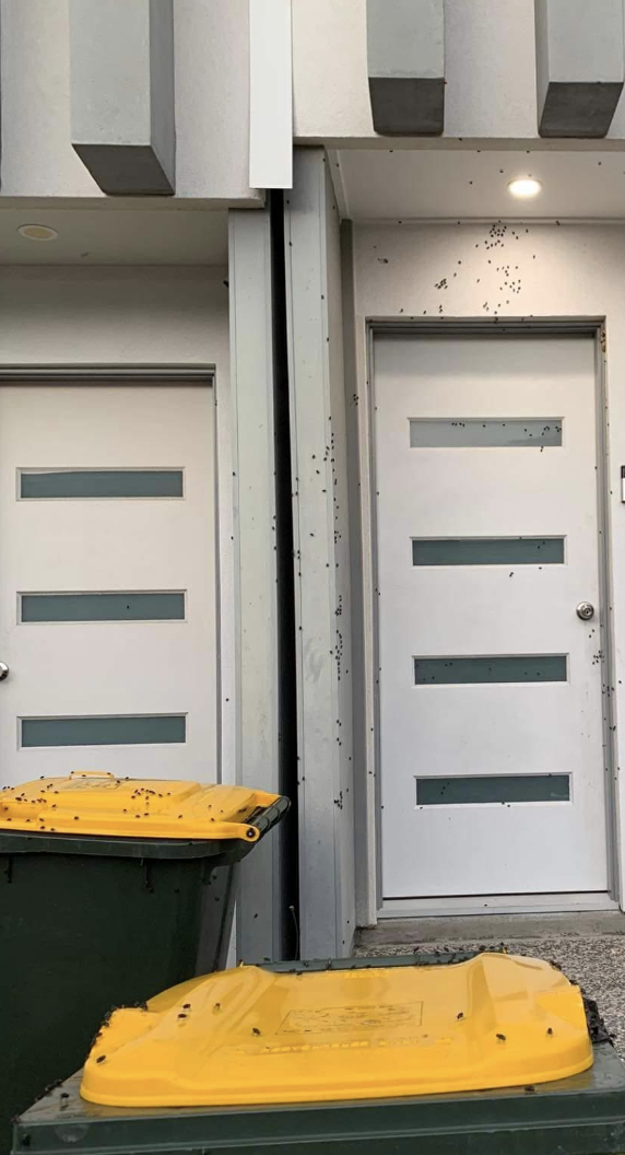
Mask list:
[[205,386],[0,387],[0,778],[214,780]]

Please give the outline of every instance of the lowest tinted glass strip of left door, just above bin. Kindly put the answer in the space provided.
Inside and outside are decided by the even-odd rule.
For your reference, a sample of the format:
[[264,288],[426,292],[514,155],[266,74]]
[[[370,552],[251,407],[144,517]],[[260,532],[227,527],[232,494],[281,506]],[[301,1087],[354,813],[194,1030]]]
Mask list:
[[141,746],[185,742],[183,714],[22,718],[22,746]]

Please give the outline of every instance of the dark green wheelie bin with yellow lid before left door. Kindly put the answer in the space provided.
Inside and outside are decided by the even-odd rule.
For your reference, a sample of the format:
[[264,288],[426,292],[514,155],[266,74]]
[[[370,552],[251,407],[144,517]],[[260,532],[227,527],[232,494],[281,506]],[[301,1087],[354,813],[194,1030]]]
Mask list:
[[113,1007],[225,964],[236,865],[287,807],[82,772],[0,793],[2,1155],[10,1119],[82,1065]]

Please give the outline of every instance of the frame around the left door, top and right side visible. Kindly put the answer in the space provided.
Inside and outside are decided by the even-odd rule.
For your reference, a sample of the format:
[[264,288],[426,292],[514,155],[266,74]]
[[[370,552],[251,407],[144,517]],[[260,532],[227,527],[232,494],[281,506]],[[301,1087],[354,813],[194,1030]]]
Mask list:
[[219,504],[220,492],[227,492],[224,484],[223,464],[219,456],[218,435],[218,408],[217,408],[217,370],[214,364],[196,363],[185,365],[183,363],[160,363],[150,364],[146,362],[125,364],[107,362],[89,363],[54,363],[52,365],[32,364],[0,364],[0,388],[3,385],[111,385],[115,386],[136,385],[158,387],[160,385],[196,385],[212,389],[214,420],[212,433],[212,450],[214,463],[214,654],[216,654],[216,757],[217,757],[217,781],[223,780],[223,750],[224,750],[224,720],[221,709],[221,651],[224,648],[223,621],[221,621],[221,591],[220,591],[220,534],[219,534]]

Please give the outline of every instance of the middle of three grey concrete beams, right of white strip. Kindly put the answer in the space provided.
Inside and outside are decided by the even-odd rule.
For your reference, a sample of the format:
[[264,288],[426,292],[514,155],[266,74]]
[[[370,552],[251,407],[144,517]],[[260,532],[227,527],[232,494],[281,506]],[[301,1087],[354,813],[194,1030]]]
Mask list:
[[439,136],[445,107],[443,0],[367,0],[367,55],[376,133]]

